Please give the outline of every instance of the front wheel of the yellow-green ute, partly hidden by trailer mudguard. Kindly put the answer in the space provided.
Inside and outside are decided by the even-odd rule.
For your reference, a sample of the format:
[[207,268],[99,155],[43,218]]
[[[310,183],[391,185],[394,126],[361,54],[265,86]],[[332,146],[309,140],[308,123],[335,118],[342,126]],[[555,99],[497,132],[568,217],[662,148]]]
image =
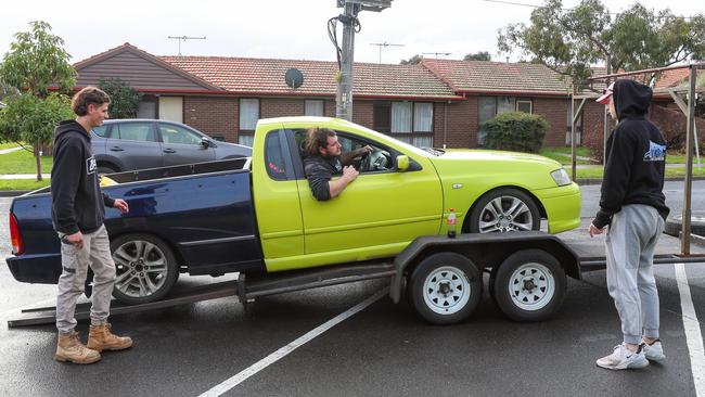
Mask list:
[[482,196],[470,214],[471,233],[539,230],[541,214],[521,190],[500,188]]

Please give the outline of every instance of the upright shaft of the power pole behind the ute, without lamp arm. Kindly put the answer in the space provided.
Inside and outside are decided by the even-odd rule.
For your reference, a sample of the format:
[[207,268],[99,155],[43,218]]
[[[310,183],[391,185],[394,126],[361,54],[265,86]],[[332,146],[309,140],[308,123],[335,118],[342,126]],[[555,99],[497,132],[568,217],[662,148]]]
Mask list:
[[355,49],[355,17],[359,4],[345,3],[343,26],[343,48],[341,54],[341,81],[335,95],[335,117],[352,121],[352,62]]

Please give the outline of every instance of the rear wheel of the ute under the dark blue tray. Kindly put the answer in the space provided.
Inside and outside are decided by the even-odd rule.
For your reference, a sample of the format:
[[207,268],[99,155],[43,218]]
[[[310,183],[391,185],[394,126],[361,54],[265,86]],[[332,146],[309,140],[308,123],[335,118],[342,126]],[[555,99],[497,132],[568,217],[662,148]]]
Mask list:
[[111,242],[115,260],[113,296],[137,305],[163,298],[179,277],[176,257],[161,239],[151,234],[126,234]]

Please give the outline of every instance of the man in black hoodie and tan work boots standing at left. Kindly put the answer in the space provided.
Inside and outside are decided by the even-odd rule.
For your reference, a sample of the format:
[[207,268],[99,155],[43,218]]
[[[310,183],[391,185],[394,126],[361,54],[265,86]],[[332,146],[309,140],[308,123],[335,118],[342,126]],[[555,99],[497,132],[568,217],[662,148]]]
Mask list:
[[[75,120],[61,121],[54,131],[54,165],[51,170],[51,217],[61,240],[63,271],[59,278],[56,329],[59,361],[91,363],[102,350],[121,350],[132,345],[129,337],[111,333],[107,316],[115,283],[115,262],[103,219],[104,206],[128,212],[125,201],[101,192],[90,131],[103,124],[110,104],[98,88],[80,90],[72,101]],[[88,347],[76,328],[76,300],[84,293],[88,267],[93,270],[91,325]]]

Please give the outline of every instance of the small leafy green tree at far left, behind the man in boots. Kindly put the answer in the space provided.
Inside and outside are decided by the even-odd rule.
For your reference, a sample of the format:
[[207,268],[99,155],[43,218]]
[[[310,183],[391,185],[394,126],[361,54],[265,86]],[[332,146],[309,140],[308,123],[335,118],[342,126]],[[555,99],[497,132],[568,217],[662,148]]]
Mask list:
[[[37,161],[41,180],[40,148],[51,141],[51,131],[62,118],[70,117],[65,97],[50,94],[51,87],[67,92],[76,82],[76,69],[68,62],[64,40],[51,34],[42,21],[31,22],[30,31],[14,35],[0,64],[0,82],[16,90],[3,99],[8,107],[0,113],[0,141],[24,141]],[[48,127],[49,126],[49,127]]]

